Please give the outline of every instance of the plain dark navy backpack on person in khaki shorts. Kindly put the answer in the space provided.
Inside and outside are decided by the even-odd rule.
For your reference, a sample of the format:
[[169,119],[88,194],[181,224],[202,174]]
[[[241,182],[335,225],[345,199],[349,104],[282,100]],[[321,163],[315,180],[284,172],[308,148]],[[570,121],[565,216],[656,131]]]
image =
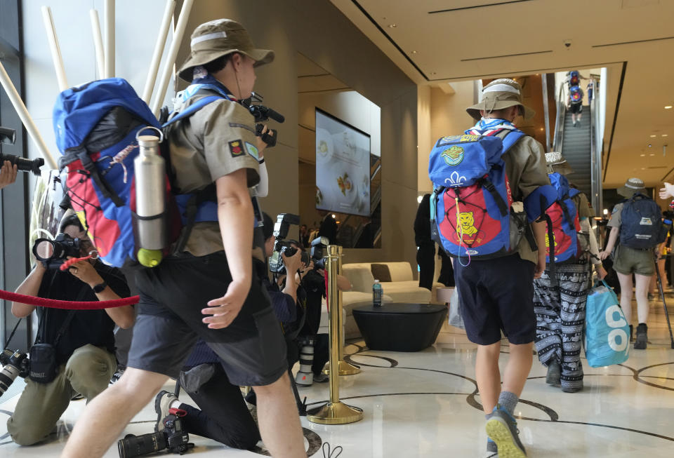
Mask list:
[[620,214],[620,244],[636,250],[654,248],[661,240],[662,213],[644,194],[634,194],[623,203]]

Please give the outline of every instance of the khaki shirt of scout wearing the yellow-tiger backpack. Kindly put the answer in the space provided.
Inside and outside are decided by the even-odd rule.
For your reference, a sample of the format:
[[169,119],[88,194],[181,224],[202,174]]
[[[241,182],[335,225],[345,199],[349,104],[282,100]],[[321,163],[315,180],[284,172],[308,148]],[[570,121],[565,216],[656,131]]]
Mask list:
[[[508,174],[513,201],[524,201],[536,188],[550,184],[543,145],[534,137],[525,135],[503,154],[505,173]],[[523,260],[538,262],[538,252],[531,250],[527,238],[522,237],[517,252]]]

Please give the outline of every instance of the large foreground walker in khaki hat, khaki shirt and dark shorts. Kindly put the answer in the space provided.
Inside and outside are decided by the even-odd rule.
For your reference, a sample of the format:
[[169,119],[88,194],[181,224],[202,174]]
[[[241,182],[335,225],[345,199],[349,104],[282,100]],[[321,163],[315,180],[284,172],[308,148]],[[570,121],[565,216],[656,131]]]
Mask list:
[[[199,219],[191,231],[183,228],[171,256],[136,274],[141,299],[127,369],[86,406],[62,456],[103,456],[167,379],[178,377],[192,346],[202,339],[232,384],[256,391],[260,434],[270,454],[306,457],[286,344],[252,267],[255,217],[249,188],[260,180],[258,160],[265,143],[256,137],[253,116],[237,103],[250,97],[256,68],[273,58],[273,51],[256,48],[233,20],[194,29],[190,55],[179,70],[191,84],[178,96],[178,112],[211,98],[171,124],[166,137],[172,185],[185,196],[203,199],[193,207]],[[181,196],[176,200],[180,206]]]

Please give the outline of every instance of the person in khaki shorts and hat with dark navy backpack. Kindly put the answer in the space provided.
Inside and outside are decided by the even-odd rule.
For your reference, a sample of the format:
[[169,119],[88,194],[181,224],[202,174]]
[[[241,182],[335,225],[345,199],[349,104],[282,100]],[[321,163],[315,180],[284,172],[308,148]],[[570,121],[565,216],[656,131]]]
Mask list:
[[[630,198],[636,193],[645,194],[644,182],[639,178],[630,178],[623,187],[618,189],[618,194],[623,197]],[[637,326],[637,338],[634,343],[634,348],[642,350],[647,345],[647,325],[649,303],[648,303],[648,287],[651,282],[651,277],[655,274],[655,264],[653,262],[653,250],[635,250],[623,245],[617,245],[616,241],[619,239],[621,212],[623,210],[623,203],[617,203],[611,213],[611,220],[609,220],[608,227],[611,228],[609,234],[609,242],[606,249],[600,252],[599,257],[606,259],[613,248],[616,248],[614,253],[613,268],[618,274],[620,281],[620,307],[623,309],[623,314],[628,323],[632,322],[632,288],[635,288],[635,296],[637,299],[637,318],[639,325]],[[635,283],[632,283],[632,274],[634,274]],[[630,324],[630,335],[633,327]]]

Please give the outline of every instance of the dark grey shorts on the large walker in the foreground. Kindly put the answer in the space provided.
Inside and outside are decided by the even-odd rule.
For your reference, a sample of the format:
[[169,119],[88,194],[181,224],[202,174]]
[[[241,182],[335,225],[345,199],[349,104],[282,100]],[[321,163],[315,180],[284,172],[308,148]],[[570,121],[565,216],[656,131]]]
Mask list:
[[232,281],[224,252],[168,258],[136,275],[138,318],[128,366],[178,377],[197,339],[223,360],[232,384],[263,386],[288,370],[286,344],[269,297],[253,272],[246,302],[232,324],[208,328],[201,309]]

